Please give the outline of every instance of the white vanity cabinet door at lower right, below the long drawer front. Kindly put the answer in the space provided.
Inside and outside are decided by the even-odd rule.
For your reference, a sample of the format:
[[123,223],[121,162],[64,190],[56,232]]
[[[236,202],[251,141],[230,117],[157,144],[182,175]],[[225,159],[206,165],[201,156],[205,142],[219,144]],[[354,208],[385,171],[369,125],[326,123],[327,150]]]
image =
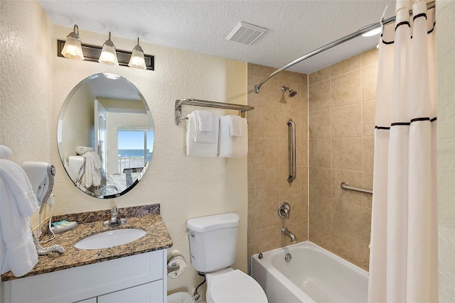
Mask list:
[[163,303],[163,280],[111,292],[98,297],[98,303]]

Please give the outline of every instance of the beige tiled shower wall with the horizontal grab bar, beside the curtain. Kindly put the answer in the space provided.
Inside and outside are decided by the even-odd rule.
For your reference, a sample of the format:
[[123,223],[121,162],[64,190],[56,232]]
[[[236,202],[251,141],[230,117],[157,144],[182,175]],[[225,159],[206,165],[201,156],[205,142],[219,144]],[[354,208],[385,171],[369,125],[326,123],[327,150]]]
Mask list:
[[368,270],[378,51],[309,75],[309,239]]

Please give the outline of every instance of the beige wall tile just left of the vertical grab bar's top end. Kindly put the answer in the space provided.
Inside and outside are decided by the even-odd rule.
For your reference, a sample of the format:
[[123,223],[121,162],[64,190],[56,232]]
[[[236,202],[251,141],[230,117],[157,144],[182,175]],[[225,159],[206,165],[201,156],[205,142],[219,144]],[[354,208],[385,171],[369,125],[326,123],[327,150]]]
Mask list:
[[255,138],[279,138],[279,112],[255,109]]

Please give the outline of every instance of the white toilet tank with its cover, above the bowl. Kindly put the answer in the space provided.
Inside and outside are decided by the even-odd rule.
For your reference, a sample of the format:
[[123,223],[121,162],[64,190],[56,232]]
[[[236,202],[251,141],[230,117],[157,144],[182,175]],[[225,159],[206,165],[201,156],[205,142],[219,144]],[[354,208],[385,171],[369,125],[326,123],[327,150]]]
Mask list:
[[198,272],[213,272],[234,263],[239,221],[235,213],[186,221],[193,268]]

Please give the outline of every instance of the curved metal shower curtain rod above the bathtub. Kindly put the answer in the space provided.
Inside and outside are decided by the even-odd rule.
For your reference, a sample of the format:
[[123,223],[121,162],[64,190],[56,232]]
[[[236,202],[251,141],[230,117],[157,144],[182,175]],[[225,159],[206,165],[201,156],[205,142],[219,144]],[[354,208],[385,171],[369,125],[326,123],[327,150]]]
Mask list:
[[[427,9],[433,9],[434,6],[435,6],[435,1],[430,1],[430,2],[427,3]],[[412,16],[412,9],[410,9],[410,16]],[[363,35],[364,33],[368,33],[369,31],[374,30],[375,28],[380,28],[381,23],[383,25],[386,25],[388,23],[392,23],[392,22],[395,21],[396,18],[397,18],[396,16],[393,16],[393,17],[390,17],[388,19],[385,19],[382,22],[373,23],[373,24],[370,24],[369,26],[365,26],[363,28],[360,28],[360,30],[358,30],[358,31],[356,31],[354,33],[351,33],[350,35],[346,35],[343,38],[340,38],[340,39],[335,40],[335,41],[333,41],[331,43],[328,43],[328,44],[322,46],[321,48],[317,48],[316,50],[313,50],[312,52],[310,52],[310,53],[308,53],[306,55],[303,55],[303,56],[297,58],[296,60],[294,60],[292,62],[289,62],[287,65],[284,65],[284,67],[281,67],[278,70],[275,70],[274,72],[272,72],[272,74],[270,74],[267,78],[264,78],[259,84],[255,85],[255,93],[256,94],[259,93],[259,89],[261,89],[262,85],[265,82],[267,82],[270,78],[272,78],[274,75],[277,75],[279,72],[282,72],[283,70],[287,70],[292,65],[296,65],[297,63],[299,63],[301,61],[304,61],[304,60],[308,59],[309,57],[313,57],[314,55],[322,53],[323,51],[326,51],[326,50],[328,50],[330,48],[333,48],[336,45],[340,45],[340,44],[345,43],[345,42],[347,42],[349,40],[352,40],[353,38],[357,38],[360,35]]]

